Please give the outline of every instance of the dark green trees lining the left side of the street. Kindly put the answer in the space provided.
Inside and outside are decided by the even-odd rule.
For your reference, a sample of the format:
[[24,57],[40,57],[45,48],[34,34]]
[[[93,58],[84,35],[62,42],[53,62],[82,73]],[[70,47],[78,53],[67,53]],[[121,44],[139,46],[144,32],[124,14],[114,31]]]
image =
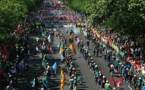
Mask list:
[[0,0],[0,40],[9,36],[42,0]]

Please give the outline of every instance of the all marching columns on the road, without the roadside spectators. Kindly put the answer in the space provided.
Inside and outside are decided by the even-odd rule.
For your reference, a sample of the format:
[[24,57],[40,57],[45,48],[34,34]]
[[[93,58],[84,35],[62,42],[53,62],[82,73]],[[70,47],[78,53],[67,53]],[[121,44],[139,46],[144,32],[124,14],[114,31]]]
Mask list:
[[[40,27],[38,27],[40,29]],[[71,32],[72,33],[72,32]],[[89,33],[89,32],[88,32]],[[47,89],[49,86],[48,82],[51,81],[51,76],[56,75],[56,67],[57,64],[54,63],[54,65],[50,66],[47,60],[47,54],[52,54],[55,52],[55,49],[52,48],[51,42],[53,42],[53,38],[55,37],[54,31],[49,31],[49,32],[44,32],[42,31],[40,33],[42,36],[47,36],[43,39],[36,39],[36,46],[35,50],[30,50],[30,38],[28,37],[27,34],[22,35],[21,39],[19,40],[19,45],[16,47],[16,52],[17,52],[17,58],[16,58],[16,64],[15,65],[10,65],[8,69],[8,85],[6,86],[6,90],[9,90],[9,88],[15,86],[15,80],[14,78],[18,73],[21,73],[23,71],[29,70],[29,61],[28,57],[30,54],[33,52],[35,53],[41,53],[42,54],[42,66],[44,67],[44,72],[43,72],[43,78],[40,80],[42,82],[42,85],[37,85],[38,82],[40,82],[38,79],[38,76],[35,76],[33,81],[32,81],[32,88],[34,87],[39,87],[43,86],[43,88]],[[62,42],[60,44],[60,48],[63,48],[62,52],[62,62],[65,61],[66,66],[67,66],[67,72],[68,76],[70,77],[69,83],[70,83],[70,90],[76,90],[78,81],[81,82],[80,77],[81,75],[77,73],[77,67],[74,64],[72,60],[72,55],[71,54],[66,54],[67,51],[67,39],[63,35],[56,35]],[[115,74],[119,74],[123,76],[123,79],[120,79],[120,85],[122,82],[127,81],[129,82],[136,90],[140,90],[144,86],[144,81],[141,76],[139,76],[131,63],[129,63],[127,60],[123,60],[121,56],[117,55],[114,50],[112,50],[110,47],[104,45],[98,38],[94,38],[93,36],[88,35],[88,40],[86,41],[86,46],[85,44],[79,40],[79,38],[75,38],[76,42],[78,44],[78,47],[80,48],[80,52],[84,55],[88,66],[90,67],[90,70],[93,71],[94,73],[94,78],[96,80],[96,83],[103,89],[103,90],[112,90],[112,86],[109,83],[109,80],[107,80],[107,77],[103,75],[101,72],[100,68],[94,61],[94,56],[102,56],[104,57],[104,60],[108,62],[108,67],[110,69],[110,74],[113,76]],[[89,48],[90,48],[90,41],[92,40],[95,44],[94,49],[93,49],[93,54],[90,54]],[[71,41],[71,40],[70,40]],[[73,41],[72,41],[73,42]],[[32,47],[32,46],[31,46]],[[136,52],[132,53],[135,54],[135,56],[140,56],[139,51],[135,50]],[[138,52],[137,52],[138,51]],[[128,53],[127,53],[128,54]],[[128,55],[132,55],[129,53]],[[61,70],[61,76],[64,77],[64,71]],[[65,79],[62,79],[61,82],[61,89],[64,89],[64,83]],[[115,84],[115,82],[114,82]],[[119,87],[120,85],[115,84],[115,87]]]

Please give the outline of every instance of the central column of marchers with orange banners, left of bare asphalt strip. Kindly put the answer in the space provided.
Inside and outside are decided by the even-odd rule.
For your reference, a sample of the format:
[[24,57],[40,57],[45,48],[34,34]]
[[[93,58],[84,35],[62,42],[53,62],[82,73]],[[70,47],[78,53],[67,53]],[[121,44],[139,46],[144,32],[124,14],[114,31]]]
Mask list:
[[[59,33],[61,39],[59,49],[61,63],[64,65],[63,72],[65,73],[65,76],[68,77],[68,80],[65,79],[64,82],[69,83],[69,90],[77,90],[78,85],[81,84],[82,82],[82,74],[79,69],[79,65],[74,60],[74,55],[76,54],[76,51],[74,50],[73,47],[72,48],[70,47],[72,43],[74,43],[76,40],[74,39],[75,36],[73,31],[66,33],[70,35],[69,38],[66,38],[67,35],[65,34],[64,31],[62,33]],[[64,85],[65,84],[64,82],[61,82],[61,85]],[[63,89],[61,90],[64,90],[64,86]]]

